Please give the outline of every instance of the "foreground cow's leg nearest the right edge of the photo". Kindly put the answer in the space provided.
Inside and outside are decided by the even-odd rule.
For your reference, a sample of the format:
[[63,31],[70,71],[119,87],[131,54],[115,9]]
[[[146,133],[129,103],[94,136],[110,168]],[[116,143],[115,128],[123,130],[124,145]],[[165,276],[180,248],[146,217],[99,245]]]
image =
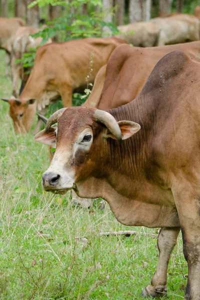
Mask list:
[[[197,170],[196,170],[197,169]],[[199,164],[190,166],[184,177],[174,180],[174,196],[183,240],[183,253],[188,267],[184,300],[200,300],[200,187]],[[189,178],[189,180],[188,180]],[[190,182],[189,182],[190,181]],[[177,185],[175,185],[177,182]]]

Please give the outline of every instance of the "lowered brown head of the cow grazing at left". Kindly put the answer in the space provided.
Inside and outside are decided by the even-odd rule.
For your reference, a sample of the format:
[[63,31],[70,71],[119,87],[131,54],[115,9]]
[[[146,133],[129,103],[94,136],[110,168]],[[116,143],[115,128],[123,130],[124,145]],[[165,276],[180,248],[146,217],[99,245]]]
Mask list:
[[35,99],[22,101],[14,96],[1,99],[10,104],[9,114],[14,123],[15,133],[27,132],[36,112]]

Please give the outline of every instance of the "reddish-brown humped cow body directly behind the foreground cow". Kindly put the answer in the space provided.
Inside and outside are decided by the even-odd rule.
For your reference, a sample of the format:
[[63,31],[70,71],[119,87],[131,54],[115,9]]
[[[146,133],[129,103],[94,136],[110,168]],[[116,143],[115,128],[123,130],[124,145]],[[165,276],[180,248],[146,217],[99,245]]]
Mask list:
[[200,61],[200,41],[150,48],[118,46],[108,60],[105,83],[100,97],[96,98],[96,107],[106,110],[130,102],[141,91],[157,61],[173,50],[182,50]]

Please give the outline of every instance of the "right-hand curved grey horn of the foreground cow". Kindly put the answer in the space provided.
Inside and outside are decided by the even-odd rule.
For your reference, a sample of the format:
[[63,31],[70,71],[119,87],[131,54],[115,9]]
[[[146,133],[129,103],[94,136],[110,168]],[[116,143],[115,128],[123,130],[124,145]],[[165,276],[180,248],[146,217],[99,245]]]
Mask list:
[[121,130],[115,118],[107,111],[95,109],[93,118],[102,124],[121,142]]

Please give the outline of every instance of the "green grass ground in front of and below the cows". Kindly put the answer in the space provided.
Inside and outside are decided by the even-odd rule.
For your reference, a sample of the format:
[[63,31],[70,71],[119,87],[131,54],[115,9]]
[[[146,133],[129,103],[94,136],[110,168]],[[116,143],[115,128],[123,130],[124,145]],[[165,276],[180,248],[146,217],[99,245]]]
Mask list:
[[[0,50],[0,96],[9,96]],[[127,227],[100,199],[89,209],[44,192],[47,147],[15,135],[0,102],[0,299],[140,299],[157,263],[157,229]],[[62,203],[61,203],[62,202]],[[99,236],[136,230],[135,235]],[[84,237],[78,240],[75,237]],[[178,239],[168,268],[168,299],[183,298],[187,265]]]

